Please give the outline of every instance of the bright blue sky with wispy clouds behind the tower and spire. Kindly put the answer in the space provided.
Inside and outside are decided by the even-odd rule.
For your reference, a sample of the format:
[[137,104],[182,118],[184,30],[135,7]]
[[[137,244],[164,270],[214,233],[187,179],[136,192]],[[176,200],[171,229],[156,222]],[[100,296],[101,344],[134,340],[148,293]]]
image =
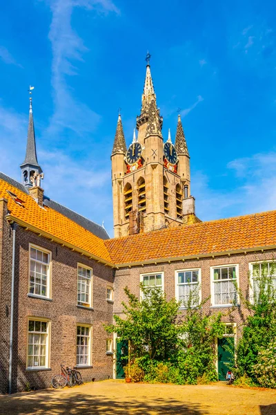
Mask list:
[[276,208],[273,1],[10,0],[0,4],[0,171],[20,180],[28,85],[43,188],[112,235],[110,152],[127,145],[145,55],[175,136],[177,108],[202,220]]

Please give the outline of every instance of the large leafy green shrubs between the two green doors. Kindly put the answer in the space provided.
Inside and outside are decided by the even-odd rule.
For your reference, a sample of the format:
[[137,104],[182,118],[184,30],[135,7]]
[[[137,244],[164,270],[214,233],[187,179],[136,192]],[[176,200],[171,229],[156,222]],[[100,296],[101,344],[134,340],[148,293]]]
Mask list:
[[141,285],[141,301],[125,288],[128,304],[124,318],[115,315],[115,324],[106,326],[121,340],[128,340],[128,373],[136,381],[196,384],[217,380],[215,338],[224,334],[221,313],[206,315],[190,293],[186,311],[180,316],[175,299],[166,299],[158,288]]

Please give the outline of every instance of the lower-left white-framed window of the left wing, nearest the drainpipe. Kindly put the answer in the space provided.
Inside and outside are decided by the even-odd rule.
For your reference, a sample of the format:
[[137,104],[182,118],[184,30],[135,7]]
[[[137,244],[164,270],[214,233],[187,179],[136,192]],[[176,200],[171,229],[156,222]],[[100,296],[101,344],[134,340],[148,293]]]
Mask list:
[[36,317],[28,320],[27,369],[48,367],[49,321]]

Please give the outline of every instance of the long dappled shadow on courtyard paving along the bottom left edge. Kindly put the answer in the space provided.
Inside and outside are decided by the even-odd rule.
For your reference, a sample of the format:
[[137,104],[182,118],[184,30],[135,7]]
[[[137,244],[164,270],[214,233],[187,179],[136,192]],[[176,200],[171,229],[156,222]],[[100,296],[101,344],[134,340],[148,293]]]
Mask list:
[[[44,395],[44,396],[43,396]],[[146,399],[146,396],[145,396]],[[197,404],[184,404],[179,400],[162,398],[147,399],[144,403],[138,403],[135,396],[129,396],[125,402],[119,402],[105,396],[87,396],[85,394],[57,395],[29,394],[28,396],[11,396],[3,400],[0,397],[1,415],[52,415],[52,414],[185,414],[206,415],[206,410],[200,409]],[[16,411],[16,412],[14,412]]]

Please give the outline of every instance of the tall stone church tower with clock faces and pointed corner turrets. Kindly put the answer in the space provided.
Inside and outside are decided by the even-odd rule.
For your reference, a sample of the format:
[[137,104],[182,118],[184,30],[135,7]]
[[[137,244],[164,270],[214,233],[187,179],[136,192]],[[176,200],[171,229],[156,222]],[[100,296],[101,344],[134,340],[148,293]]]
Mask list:
[[164,142],[150,73],[149,55],[141,113],[130,147],[119,115],[112,149],[112,194],[115,237],[199,221],[190,196],[190,156],[181,117],[175,145],[170,131]]

